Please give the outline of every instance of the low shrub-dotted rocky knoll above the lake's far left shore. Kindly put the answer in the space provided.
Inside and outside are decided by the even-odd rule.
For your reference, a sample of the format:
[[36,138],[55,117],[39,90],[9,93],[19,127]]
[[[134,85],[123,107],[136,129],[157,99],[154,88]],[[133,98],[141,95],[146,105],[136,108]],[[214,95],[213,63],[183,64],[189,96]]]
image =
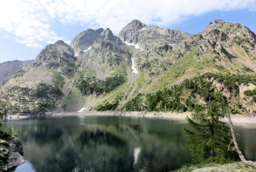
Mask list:
[[52,111],[60,95],[61,91],[55,83],[17,77],[6,82],[0,89],[0,112],[16,114]]

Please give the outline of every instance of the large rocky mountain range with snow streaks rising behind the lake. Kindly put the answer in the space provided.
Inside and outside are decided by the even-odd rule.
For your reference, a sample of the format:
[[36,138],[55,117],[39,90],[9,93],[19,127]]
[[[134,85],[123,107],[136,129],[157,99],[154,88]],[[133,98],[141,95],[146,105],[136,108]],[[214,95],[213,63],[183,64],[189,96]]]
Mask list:
[[138,20],[118,36],[87,29],[70,45],[49,44],[31,66],[22,65],[0,88],[0,106],[6,113],[180,112],[204,103],[202,89],[225,96],[236,89],[232,112],[256,114],[255,40],[244,25],[219,19],[193,35]]

